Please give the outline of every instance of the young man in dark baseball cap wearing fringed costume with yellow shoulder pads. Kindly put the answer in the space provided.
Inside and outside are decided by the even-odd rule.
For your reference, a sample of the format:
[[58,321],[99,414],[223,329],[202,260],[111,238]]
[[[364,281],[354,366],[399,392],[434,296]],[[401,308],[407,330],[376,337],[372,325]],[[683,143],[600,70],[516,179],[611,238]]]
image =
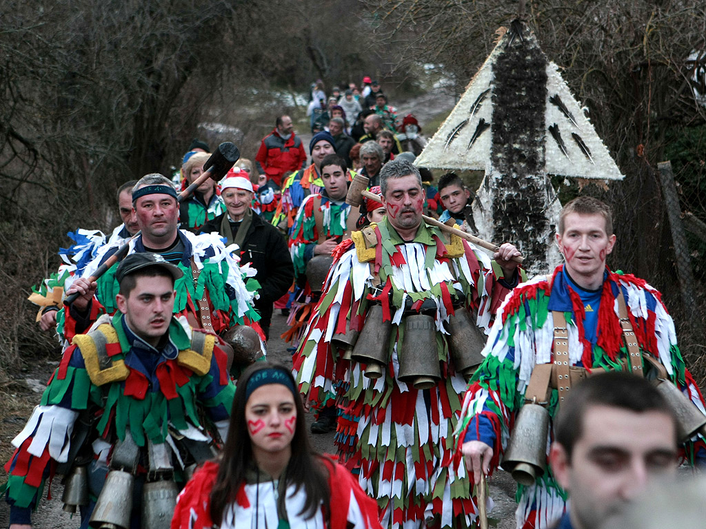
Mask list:
[[[149,484],[162,497],[172,490],[175,500],[173,482],[186,482],[196,463],[213,457],[215,440],[225,439],[235,387],[215,336],[172,315],[174,282],[184,272],[160,255],[136,253],[115,275],[119,312],[73,337],[40,406],[13,440],[16,451],[6,465],[11,528],[30,524],[44,480],[59,465],[59,473],[83,475],[88,486],[83,499],[65,496],[80,508],[81,528],[103,497],[103,506],[132,498],[132,511],[120,503],[97,513],[123,509],[124,526],[138,529],[148,523],[140,523],[140,513],[154,497]],[[123,489],[111,481],[106,498],[100,493],[112,474],[132,485]]]

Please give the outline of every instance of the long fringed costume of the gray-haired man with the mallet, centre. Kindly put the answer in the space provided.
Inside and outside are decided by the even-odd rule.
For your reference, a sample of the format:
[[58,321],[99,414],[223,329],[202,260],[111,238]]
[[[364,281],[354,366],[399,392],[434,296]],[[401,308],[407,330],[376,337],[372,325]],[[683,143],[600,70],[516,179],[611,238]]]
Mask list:
[[[350,383],[346,413],[359,418],[357,456],[359,481],[376,498],[381,523],[387,528],[418,528],[420,523],[438,527],[468,527],[475,508],[464,468],[454,468],[453,431],[461,410],[465,381],[448,361],[445,325],[453,313],[453,296],[477,314],[482,329],[508,288],[495,274],[489,258],[460,238],[445,242],[441,231],[421,224],[411,243],[402,241],[383,220],[371,224],[376,245],[366,248],[358,236],[349,248],[342,244],[328,275],[321,301],[306,329],[294,371],[302,394],[321,403],[333,389],[334,377]],[[381,294],[373,298],[373,272],[381,281]],[[397,378],[397,343],[404,339],[402,322],[407,299],[412,310],[424,300],[436,305],[438,360],[442,379],[436,387],[418,391]],[[382,304],[383,318],[392,320],[393,334],[385,375],[376,381],[364,377],[364,365],[342,359],[332,350],[336,332],[361,329],[371,302]]]

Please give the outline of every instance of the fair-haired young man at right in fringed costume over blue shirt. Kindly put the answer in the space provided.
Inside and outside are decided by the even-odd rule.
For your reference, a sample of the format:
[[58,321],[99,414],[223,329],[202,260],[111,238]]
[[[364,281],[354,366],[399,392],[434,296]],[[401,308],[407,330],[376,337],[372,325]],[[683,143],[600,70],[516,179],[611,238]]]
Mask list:
[[[541,403],[553,418],[572,384],[589,372],[629,370],[653,377],[664,370],[659,378],[671,380],[703,411],[661,294],[642,279],[606,267],[615,242],[607,205],[593,197],[568,202],[556,233],[564,264],[551,277],[517,286],[505,299],[457,430],[457,456],[476,483],[501,461],[523,402]],[[700,434],[687,446],[690,461],[705,458]],[[518,528],[551,527],[565,511],[566,494],[551,468],[534,484],[518,487]]]

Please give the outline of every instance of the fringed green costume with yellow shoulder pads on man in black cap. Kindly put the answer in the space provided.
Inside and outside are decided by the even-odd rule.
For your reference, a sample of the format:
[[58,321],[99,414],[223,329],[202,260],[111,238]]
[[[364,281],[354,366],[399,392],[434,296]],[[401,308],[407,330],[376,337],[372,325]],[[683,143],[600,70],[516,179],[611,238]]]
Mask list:
[[[124,439],[126,432],[138,446],[145,446],[148,439],[166,443],[175,468],[181,457],[167,427],[179,436],[208,441],[213,424],[225,438],[235,387],[215,337],[206,337],[202,353],[191,351],[191,327],[184,318],[173,318],[166,345],[148,352],[149,346],[124,321],[119,314],[99,327],[109,336],[107,355],[119,370],[101,369],[95,342],[76,336],[49,380],[40,406],[13,440],[17,449],[5,469],[14,516],[29,516],[50,469],[53,473],[52,461],[67,461],[71,433],[83,411],[95,418],[88,444],[94,458],[103,463],[112,444]],[[202,413],[208,422],[202,423]],[[23,522],[28,523],[26,518]]]

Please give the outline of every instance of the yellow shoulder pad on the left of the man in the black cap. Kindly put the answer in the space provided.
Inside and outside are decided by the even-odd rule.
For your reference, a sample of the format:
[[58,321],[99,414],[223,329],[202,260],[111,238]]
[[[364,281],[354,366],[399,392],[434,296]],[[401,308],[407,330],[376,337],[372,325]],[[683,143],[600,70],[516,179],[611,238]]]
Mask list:
[[83,356],[90,381],[96,386],[109,382],[121,382],[130,374],[122,358],[113,360],[108,356],[105,346],[118,343],[118,335],[112,325],[99,325],[89,334],[76,334],[71,343],[78,346]]

